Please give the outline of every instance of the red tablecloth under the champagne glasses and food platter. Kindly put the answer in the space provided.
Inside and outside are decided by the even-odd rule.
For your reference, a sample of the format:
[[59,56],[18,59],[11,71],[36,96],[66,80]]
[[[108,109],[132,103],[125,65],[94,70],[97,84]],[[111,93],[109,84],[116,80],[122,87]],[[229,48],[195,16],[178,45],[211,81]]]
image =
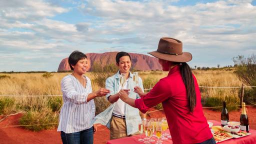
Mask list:
[[[219,121],[216,120],[209,120],[213,123],[213,125],[220,125]],[[169,133],[169,132],[168,132]],[[249,133],[251,133],[248,136],[240,137],[240,138],[232,138],[228,139],[222,142],[219,142],[220,144],[254,144],[256,143],[256,130],[250,129]],[[138,141],[137,139],[140,137],[140,135],[135,135],[135,136],[129,136],[129,137],[124,137],[124,138],[119,138],[119,139],[113,139],[113,140],[108,140],[107,144],[134,144],[134,143],[143,143]],[[142,135],[142,137],[145,137]],[[153,138],[156,140],[156,138]],[[155,142],[151,142],[155,143]],[[172,140],[163,140],[162,144],[171,144]]]

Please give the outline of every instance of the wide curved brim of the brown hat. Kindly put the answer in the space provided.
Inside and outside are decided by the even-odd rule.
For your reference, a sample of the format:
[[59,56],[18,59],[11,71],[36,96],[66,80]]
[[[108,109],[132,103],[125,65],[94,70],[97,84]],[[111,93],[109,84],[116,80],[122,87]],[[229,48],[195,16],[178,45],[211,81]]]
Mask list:
[[156,58],[160,58],[167,61],[173,61],[173,62],[187,62],[192,59],[192,54],[189,52],[182,52],[182,54],[180,55],[165,54],[165,53],[160,53],[158,51],[152,51],[147,53],[153,55]]

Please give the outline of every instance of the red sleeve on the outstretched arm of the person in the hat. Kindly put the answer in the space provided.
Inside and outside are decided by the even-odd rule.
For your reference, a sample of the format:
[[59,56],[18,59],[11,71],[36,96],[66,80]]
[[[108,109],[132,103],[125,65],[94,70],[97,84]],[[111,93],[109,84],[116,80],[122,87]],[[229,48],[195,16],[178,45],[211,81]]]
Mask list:
[[168,99],[170,95],[169,84],[164,79],[160,79],[146,95],[135,100],[135,105],[145,113],[150,107]]

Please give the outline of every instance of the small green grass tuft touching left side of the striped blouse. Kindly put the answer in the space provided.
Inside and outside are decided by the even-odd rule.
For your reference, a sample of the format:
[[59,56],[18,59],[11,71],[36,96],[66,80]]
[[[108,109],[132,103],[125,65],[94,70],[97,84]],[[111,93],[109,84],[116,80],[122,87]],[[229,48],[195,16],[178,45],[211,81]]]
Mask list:
[[48,100],[48,106],[54,112],[59,112],[62,104],[63,104],[63,102],[62,102],[62,98],[60,96],[50,97]]

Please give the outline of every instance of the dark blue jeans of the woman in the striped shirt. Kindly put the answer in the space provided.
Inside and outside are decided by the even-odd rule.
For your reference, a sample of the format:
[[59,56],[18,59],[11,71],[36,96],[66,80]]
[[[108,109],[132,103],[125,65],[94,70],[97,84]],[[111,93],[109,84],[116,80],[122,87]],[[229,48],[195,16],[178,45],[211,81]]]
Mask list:
[[60,132],[63,144],[92,144],[93,143],[93,127],[73,133]]

